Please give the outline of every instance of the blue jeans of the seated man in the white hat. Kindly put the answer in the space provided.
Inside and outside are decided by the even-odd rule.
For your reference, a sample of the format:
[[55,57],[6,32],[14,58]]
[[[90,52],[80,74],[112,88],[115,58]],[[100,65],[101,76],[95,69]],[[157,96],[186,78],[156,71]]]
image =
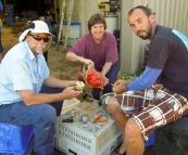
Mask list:
[[[62,90],[43,87],[41,92],[57,93]],[[29,106],[23,102],[1,105],[0,122],[17,126],[33,125],[34,151],[39,155],[52,155],[57,114],[60,115],[61,109],[59,108],[62,107],[62,104],[63,101]]]

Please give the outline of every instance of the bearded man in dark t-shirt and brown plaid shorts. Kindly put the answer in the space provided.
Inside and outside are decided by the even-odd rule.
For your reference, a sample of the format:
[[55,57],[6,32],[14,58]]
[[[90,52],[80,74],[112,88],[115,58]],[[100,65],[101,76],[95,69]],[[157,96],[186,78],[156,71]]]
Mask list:
[[154,14],[142,5],[128,12],[128,23],[138,37],[151,41],[149,59],[140,77],[115,82],[117,95],[108,100],[108,106],[123,134],[114,154],[142,155],[153,129],[188,114],[188,39],[156,25]]

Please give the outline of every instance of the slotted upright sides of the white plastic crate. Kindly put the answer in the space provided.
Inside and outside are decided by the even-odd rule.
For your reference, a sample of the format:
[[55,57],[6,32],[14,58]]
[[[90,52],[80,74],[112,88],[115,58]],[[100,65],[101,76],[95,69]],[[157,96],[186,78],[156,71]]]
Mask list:
[[[109,126],[105,126],[100,134],[97,134],[96,137],[74,127],[71,124],[62,124],[60,118],[57,120],[57,138],[77,146],[86,153],[93,153],[95,155],[99,155],[99,153],[106,146],[108,150],[111,150],[112,142],[114,140],[116,141],[116,137],[120,133],[120,130],[114,121],[109,124]],[[57,140],[55,143],[57,147],[62,152],[67,152],[65,151],[67,145],[65,146],[65,144],[61,143],[59,140]]]

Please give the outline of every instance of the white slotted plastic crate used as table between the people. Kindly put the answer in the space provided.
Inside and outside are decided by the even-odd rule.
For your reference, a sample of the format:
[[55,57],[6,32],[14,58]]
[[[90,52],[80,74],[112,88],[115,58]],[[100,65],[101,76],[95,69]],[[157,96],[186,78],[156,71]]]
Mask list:
[[[72,116],[73,112],[74,122],[62,122]],[[79,118],[82,115],[87,115],[88,121],[83,122]],[[92,122],[98,115],[102,115],[102,118],[108,118],[109,121]],[[57,118],[54,146],[66,155],[109,155],[121,143],[122,134],[118,127],[98,103],[82,102]]]

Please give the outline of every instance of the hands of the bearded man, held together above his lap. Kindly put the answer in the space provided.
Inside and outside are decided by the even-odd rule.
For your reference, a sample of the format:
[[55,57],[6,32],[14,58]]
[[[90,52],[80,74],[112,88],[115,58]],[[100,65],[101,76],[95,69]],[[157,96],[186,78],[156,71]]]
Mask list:
[[126,85],[131,82],[131,80],[117,80],[112,88],[112,91],[116,94],[121,94],[127,91]]

